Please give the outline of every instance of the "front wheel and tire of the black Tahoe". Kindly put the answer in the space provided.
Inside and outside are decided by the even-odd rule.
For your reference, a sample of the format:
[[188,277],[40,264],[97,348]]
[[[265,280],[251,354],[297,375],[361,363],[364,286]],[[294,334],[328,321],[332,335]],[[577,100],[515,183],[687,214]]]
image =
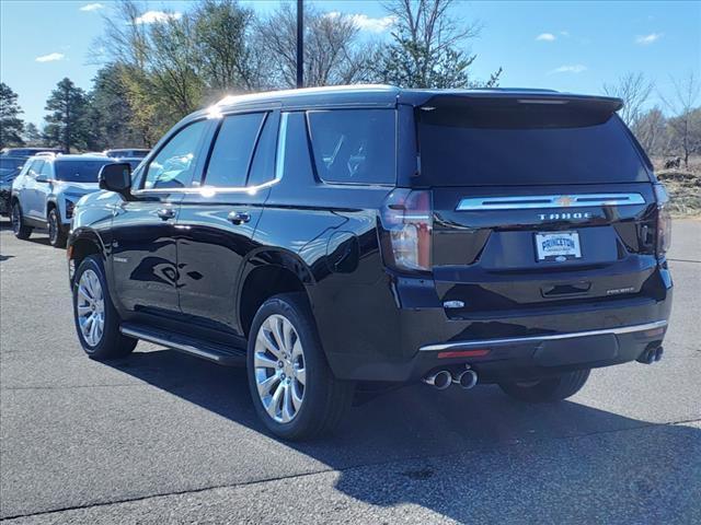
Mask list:
[[[104,267],[99,256],[91,255],[83,259],[76,271],[72,288],[76,331],[85,353],[99,361],[131,353],[138,340],[119,331],[119,314],[112,304]],[[92,323],[88,320],[89,316],[93,316]],[[91,331],[93,325],[94,332]]]

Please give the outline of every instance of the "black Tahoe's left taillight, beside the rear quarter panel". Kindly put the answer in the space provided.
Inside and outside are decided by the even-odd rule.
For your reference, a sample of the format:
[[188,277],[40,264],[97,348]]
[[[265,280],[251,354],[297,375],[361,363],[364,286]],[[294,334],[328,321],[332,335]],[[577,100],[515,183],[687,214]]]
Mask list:
[[380,211],[384,262],[399,270],[430,271],[434,225],[430,191],[399,188]]

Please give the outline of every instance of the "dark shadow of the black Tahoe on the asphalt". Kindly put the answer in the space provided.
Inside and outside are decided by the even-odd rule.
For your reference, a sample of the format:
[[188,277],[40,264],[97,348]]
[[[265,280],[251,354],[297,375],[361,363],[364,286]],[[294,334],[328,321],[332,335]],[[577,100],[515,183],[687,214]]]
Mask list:
[[[698,429],[573,401],[526,405],[494,386],[438,392],[421,384],[353,408],[332,436],[281,443],[256,419],[243,369],[171,350],[137,350],[111,365],[340,470],[338,497],[388,512],[418,506],[436,521],[471,523],[541,521],[548,509],[560,523],[688,522],[701,514]],[[689,462],[675,459],[680,450]]]

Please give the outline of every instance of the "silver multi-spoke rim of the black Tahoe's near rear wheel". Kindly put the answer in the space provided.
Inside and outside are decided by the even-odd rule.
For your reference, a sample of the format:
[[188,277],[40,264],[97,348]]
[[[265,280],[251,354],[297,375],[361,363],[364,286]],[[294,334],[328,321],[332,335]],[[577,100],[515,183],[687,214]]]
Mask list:
[[258,398],[267,415],[288,423],[304,400],[304,350],[292,324],[275,314],[266,318],[255,339],[253,366]]

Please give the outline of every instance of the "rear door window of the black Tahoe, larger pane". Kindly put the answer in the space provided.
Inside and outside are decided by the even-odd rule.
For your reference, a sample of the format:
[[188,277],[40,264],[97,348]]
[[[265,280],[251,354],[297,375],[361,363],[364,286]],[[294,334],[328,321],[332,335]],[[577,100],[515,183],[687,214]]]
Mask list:
[[263,118],[264,113],[225,117],[207,164],[204,183],[206,186],[245,186],[251,155]]

